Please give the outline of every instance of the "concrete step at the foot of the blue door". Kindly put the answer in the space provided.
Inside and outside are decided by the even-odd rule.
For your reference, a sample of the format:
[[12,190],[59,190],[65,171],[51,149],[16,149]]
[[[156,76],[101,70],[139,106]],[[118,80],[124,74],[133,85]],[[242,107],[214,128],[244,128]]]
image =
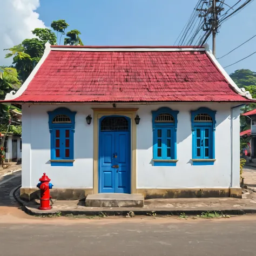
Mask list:
[[86,207],[143,207],[143,194],[89,194],[85,199]]

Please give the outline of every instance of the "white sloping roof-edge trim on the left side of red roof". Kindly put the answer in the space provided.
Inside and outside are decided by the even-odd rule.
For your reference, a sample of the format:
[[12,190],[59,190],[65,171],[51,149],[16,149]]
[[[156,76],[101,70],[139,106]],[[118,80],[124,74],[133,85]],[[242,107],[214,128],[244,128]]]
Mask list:
[[49,53],[51,51],[51,47],[50,46],[51,45],[48,42],[45,44],[45,50],[44,50],[43,57],[39,60],[39,62],[37,63],[37,65],[35,66],[33,71],[30,73],[29,77],[25,80],[25,82],[23,83],[21,88],[19,88],[19,90],[17,92],[11,91],[10,93],[7,93],[4,100],[16,99],[17,97],[21,96],[22,93],[28,88],[29,83],[31,82],[33,77],[36,75],[37,71],[39,70],[39,68],[43,64],[44,60],[49,55]]

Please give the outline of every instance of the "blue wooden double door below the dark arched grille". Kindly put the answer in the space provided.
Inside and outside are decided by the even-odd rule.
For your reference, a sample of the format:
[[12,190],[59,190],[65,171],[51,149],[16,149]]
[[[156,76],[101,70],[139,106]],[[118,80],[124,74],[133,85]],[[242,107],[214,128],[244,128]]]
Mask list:
[[130,131],[100,131],[99,193],[131,192]]

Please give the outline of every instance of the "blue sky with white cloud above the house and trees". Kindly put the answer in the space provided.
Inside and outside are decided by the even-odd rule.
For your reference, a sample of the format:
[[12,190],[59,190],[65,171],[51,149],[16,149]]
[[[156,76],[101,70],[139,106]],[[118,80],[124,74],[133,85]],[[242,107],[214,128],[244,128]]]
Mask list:
[[[67,31],[78,29],[84,45],[173,45],[198,0],[1,0],[0,49],[30,38],[34,28],[50,27],[65,19]],[[226,0],[233,5],[237,0]],[[229,9],[225,6],[225,9]],[[228,19],[217,35],[216,56],[221,57],[255,35],[256,1]],[[211,38],[207,42],[211,48]],[[256,51],[256,37],[219,60],[230,65]],[[0,65],[10,64],[0,50]],[[230,66],[256,72],[256,54]]]

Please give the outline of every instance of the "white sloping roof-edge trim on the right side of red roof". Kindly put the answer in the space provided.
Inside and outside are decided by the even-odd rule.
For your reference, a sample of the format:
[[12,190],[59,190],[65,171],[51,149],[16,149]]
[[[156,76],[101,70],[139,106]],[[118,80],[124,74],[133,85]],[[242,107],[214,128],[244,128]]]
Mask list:
[[[239,95],[246,97],[247,99],[253,99],[250,92],[246,91],[244,88],[239,88],[232,78],[228,75],[228,73],[224,70],[224,68],[219,64],[218,60],[214,57],[210,50],[206,50],[207,56],[212,60],[212,62],[217,66],[219,71],[223,74],[223,76],[227,79],[227,82],[233,87],[234,91]],[[254,99],[253,99],[254,100]],[[256,99],[255,99],[256,100]]]

